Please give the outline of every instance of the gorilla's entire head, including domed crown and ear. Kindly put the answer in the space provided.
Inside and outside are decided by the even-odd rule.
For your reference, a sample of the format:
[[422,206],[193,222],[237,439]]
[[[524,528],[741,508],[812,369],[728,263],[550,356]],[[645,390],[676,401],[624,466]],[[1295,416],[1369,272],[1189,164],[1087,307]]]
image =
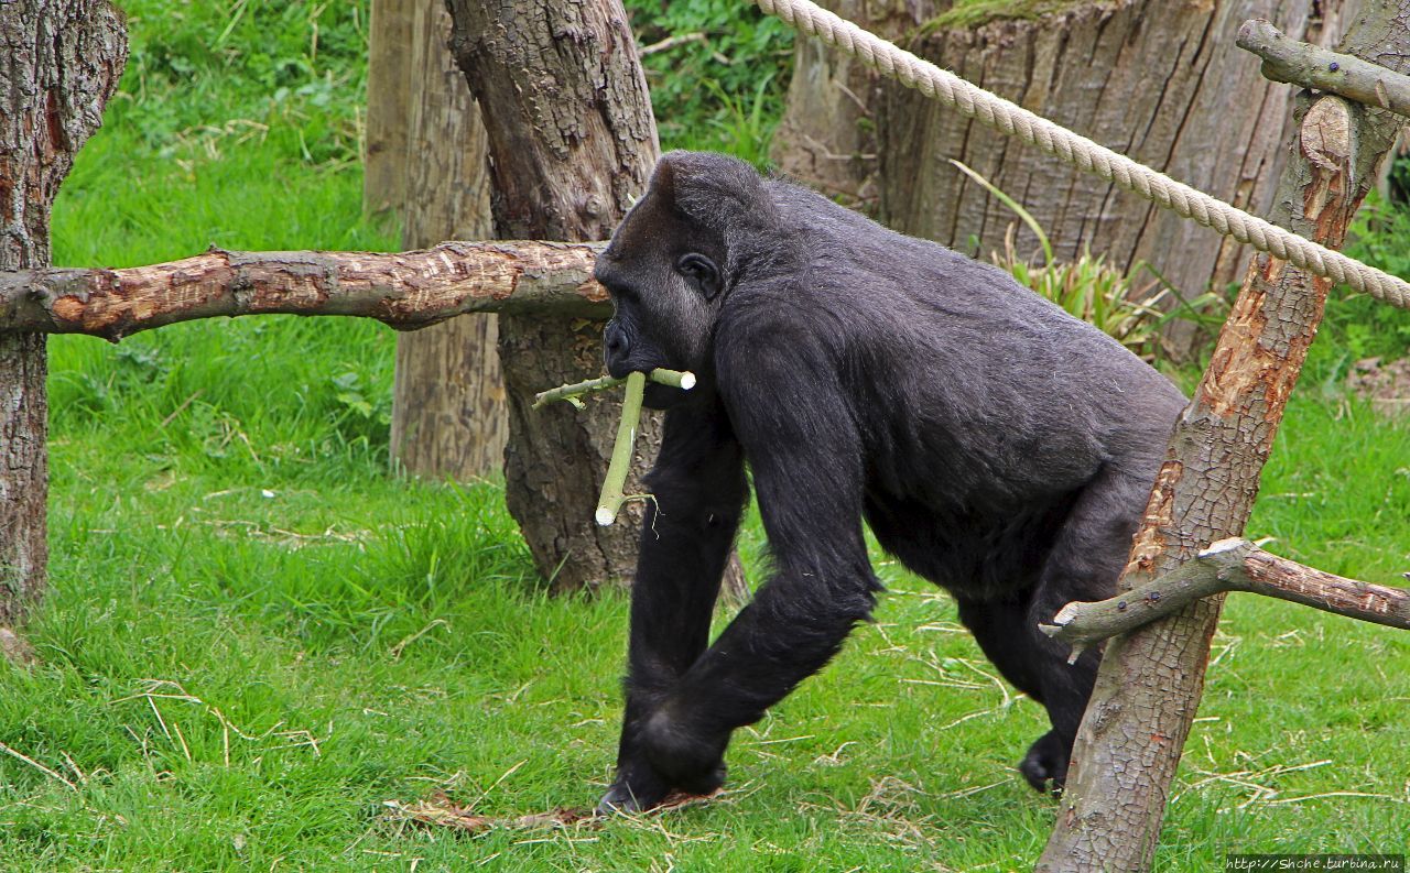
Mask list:
[[[747,266],[747,241],[773,211],[747,163],[702,152],[664,155],[594,273],[616,310],[603,334],[608,372],[620,379],[670,368],[708,384],[715,321]],[[646,401],[664,407],[682,398],[677,389],[650,386]]]

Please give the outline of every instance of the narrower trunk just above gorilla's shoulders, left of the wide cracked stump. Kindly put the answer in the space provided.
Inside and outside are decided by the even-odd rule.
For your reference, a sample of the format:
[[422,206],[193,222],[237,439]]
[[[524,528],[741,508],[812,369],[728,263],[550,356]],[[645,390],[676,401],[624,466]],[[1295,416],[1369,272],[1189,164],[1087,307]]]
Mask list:
[[[950,0],[823,0],[819,6],[895,41],[948,10]],[[876,211],[874,107],[887,82],[822,39],[799,35],[788,106],[774,134],[778,169],[846,206]]]

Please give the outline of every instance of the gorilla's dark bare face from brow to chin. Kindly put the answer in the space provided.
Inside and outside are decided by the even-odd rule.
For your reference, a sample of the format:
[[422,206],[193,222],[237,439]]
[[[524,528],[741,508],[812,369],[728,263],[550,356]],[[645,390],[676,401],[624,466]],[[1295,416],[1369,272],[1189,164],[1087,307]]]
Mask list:
[[[612,296],[603,334],[608,372],[622,379],[656,368],[709,379],[711,338],[722,303],[723,245],[681,215],[660,170],[598,258],[594,276]],[[649,386],[647,406],[684,400],[678,389]]]

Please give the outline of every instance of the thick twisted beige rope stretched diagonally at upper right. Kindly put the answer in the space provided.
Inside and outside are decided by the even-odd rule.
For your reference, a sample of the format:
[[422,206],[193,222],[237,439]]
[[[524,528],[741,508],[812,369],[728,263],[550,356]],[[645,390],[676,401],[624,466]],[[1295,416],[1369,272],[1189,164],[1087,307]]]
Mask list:
[[1410,308],[1410,284],[1316,242],[1285,231],[1256,215],[1182,184],[1142,163],[1098,145],[1080,134],[976,87],[942,70],[809,0],[752,0],[770,15],[809,37],[857,58],[883,76],[949,104],[969,118],[1024,142],[1089,173],[1134,191],[1152,203],[1246,242],[1261,252],[1294,263],[1311,273],[1345,283],[1376,300]]

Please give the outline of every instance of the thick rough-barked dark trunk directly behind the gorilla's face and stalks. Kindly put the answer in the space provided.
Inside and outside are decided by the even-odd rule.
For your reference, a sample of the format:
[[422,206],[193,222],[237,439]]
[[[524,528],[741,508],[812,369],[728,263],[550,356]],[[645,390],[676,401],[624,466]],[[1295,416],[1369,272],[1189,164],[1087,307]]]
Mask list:
[[[450,0],[448,7],[451,49],[489,134],[498,234],[608,238],[646,190],[660,153],[620,1]],[[499,348],[509,394],[506,501],[539,572],[556,590],[629,580],[642,508],[627,507],[634,524],[592,521],[619,404],[594,397],[582,413],[530,410],[544,386],[602,372],[601,324],[505,315]],[[658,442],[658,421],[643,420],[633,469],[646,467]]]

